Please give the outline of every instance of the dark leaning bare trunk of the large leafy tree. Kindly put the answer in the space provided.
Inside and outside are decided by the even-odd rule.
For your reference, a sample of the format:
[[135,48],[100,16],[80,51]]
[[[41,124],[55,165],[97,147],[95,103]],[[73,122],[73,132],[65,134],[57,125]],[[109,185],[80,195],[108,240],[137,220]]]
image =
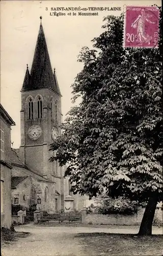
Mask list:
[[158,202],[157,193],[152,193],[148,199],[147,206],[144,211],[143,219],[139,229],[140,236],[151,236],[152,234],[152,223],[154,219],[155,209]]

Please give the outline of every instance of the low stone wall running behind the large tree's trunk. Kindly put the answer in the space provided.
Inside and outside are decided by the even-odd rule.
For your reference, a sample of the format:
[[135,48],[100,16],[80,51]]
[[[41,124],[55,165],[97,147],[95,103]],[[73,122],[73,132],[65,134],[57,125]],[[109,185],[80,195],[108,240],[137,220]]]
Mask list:
[[[105,225],[126,225],[134,226],[140,225],[145,208],[140,208],[137,214],[125,216],[125,215],[102,215],[102,214],[88,214],[85,218],[85,223],[87,224],[105,224]],[[162,221],[162,211],[157,209],[155,212],[155,217]]]

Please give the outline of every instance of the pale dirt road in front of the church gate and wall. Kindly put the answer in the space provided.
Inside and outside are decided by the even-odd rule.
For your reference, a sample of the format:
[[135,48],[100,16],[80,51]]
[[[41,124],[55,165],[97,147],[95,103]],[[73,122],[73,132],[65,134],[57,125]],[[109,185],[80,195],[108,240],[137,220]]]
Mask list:
[[[88,251],[82,243],[82,238],[75,237],[77,233],[137,233],[137,229],[65,227],[24,225],[15,228],[16,231],[30,232],[30,236],[20,238],[17,242],[5,245],[4,256],[88,256]],[[161,231],[160,231],[161,232]],[[154,232],[156,233],[156,232]],[[158,231],[157,231],[158,233]]]

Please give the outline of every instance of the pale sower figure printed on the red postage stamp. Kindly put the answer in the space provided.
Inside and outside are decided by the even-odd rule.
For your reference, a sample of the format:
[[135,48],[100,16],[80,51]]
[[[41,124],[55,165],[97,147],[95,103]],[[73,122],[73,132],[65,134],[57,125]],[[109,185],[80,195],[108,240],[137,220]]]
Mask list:
[[148,42],[148,44],[150,45],[152,36],[148,35],[145,32],[145,22],[147,21],[150,24],[155,24],[155,22],[151,22],[151,20],[148,19],[149,17],[152,17],[152,15],[146,14],[145,9],[142,9],[141,14],[131,24],[131,27],[137,28],[137,42],[139,44],[143,44],[143,42]]

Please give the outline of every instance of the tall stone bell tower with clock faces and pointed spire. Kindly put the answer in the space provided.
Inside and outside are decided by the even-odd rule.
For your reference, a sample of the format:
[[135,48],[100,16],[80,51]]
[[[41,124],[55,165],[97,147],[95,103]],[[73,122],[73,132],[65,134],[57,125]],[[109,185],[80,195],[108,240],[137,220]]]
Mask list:
[[55,181],[61,176],[61,167],[57,161],[49,162],[49,148],[61,135],[62,96],[56,71],[52,72],[42,23],[29,69],[27,66],[21,89],[21,158],[36,173]]

